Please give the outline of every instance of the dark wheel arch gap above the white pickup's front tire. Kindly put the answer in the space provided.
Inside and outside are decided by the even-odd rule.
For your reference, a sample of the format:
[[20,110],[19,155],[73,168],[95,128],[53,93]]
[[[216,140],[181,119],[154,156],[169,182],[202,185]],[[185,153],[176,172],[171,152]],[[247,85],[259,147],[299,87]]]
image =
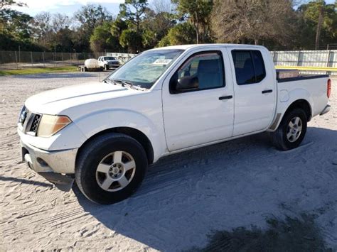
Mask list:
[[107,128],[104,131],[100,131],[90,136],[90,138],[87,138],[87,140],[84,143],[82,143],[82,146],[80,146],[80,148],[78,149],[77,155],[76,155],[76,163],[77,163],[78,157],[80,156],[81,151],[85,148],[85,146],[87,146],[88,143],[90,143],[92,140],[94,140],[98,136],[102,136],[105,133],[123,133],[127,136],[134,138],[141,144],[141,146],[143,146],[149,165],[154,163],[154,148],[151,144],[151,141],[143,132],[139,131],[136,128],[130,128],[130,127]]

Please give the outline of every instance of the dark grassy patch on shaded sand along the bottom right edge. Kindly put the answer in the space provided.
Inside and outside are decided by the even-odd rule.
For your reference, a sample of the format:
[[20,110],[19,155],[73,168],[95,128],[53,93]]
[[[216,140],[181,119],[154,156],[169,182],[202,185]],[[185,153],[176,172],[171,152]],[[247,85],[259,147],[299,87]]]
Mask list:
[[287,217],[267,219],[268,229],[240,227],[232,231],[217,231],[205,248],[191,251],[332,251],[326,248],[314,216],[302,214],[300,219]]

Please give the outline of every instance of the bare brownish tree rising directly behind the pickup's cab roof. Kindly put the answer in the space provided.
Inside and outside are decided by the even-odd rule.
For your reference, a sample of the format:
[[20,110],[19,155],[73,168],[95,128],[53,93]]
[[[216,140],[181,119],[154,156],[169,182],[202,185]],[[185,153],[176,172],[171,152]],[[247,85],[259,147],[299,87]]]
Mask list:
[[294,27],[292,1],[215,0],[212,13],[213,31],[219,42],[259,44],[272,40],[284,44]]

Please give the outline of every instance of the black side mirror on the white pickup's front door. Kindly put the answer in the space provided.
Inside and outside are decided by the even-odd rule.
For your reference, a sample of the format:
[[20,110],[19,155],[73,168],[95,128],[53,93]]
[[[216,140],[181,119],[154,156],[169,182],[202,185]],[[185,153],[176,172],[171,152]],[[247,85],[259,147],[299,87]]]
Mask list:
[[197,90],[199,88],[198,77],[185,76],[178,79],[178,75],[173,75],[170,80],[171,94],[183,93]]

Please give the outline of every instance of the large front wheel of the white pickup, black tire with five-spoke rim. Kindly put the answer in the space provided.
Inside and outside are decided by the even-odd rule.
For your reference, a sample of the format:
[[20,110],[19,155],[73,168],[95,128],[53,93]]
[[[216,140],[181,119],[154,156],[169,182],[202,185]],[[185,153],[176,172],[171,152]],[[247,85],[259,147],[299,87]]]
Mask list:
[[127,199],[137,190],[147,166],[145,150],[138,141],[122,133],[107,133],[90,141],[80,151],[75,181],[92,202],[113,204]]

